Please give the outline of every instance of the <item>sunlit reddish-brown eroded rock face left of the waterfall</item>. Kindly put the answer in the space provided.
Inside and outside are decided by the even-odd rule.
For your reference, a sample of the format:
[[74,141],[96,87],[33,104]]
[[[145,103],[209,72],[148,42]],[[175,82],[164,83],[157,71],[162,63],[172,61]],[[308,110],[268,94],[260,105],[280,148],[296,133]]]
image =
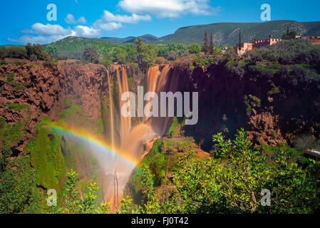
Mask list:
[[26,123],[29,133],[18,148],[22,152],[43,116],[58,119],[63,100],[71,98],[91,120],[100,116],[100,90],[105,67],[95,64],[63,63],[43,66],[31,62],[0,66],[0,116],[6,123]]

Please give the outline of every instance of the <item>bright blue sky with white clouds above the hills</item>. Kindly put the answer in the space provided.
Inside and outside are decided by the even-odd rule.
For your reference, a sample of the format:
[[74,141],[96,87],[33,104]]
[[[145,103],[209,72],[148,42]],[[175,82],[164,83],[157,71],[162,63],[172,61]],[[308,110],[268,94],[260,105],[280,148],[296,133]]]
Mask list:
[[[47,20],[47,6],[57,21]],[[0,45],[51,43],[66,36],[165,36],[177,28],[219,22],[259,22],[260,6],[272,20],[320,21],[320,1],[234,0],[31,0],[1,1]],[[262,21],[261,21],[262,22]]]

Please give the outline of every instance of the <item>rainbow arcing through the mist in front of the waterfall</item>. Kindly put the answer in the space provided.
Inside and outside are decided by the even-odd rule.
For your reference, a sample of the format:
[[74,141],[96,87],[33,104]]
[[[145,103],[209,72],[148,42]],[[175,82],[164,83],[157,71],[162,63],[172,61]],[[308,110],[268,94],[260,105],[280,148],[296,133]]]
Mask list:
[[66,125],[57,125],[56,123],[50,123],[49,126],[54,132],[58,134],[72,136],[73,138],[84,142],[86,145],[95,147],[97,150],[105,152],[108,155],[115,155],[117,158],[120,158],[132,167],[138,165],[138,161],[135,160],[134,157],[128,155],[128,152],[123,152],[118,148],[115,148],[113,150],[112,146],[108,145],[100,138],[93,136],[91,133],[88,133],[88,131],[86,130]]

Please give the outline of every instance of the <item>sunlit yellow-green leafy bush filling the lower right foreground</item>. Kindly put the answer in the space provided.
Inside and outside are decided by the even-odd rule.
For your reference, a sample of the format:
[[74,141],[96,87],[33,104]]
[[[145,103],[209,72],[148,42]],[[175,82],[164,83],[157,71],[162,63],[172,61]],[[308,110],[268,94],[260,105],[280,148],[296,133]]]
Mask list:
[[[310,160],[306,168],[299,167],[282,145],[268,164],[244,130],[234,140],[225,140],[221,133],[212,140],[217,147],[212,159],[200,160],[192,151],[180,157],[175,190],[165,201],[150,199],[146,213],[319,212],[320,162]],[[271,192],[269,207],[260,202],[264,189]]]

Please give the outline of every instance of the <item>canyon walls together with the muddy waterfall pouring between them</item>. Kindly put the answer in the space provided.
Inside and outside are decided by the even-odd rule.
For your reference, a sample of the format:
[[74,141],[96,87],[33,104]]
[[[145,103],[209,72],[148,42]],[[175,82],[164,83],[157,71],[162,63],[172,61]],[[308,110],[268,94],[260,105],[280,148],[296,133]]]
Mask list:
[[[108,143],[113,152],[128,153],[137,165],[155,138],[168,136],[172,123],[171,117],[135,115],[131,118],[120,114],[121,107],[130,104],[129,100],[122,100],[121,95],[125,92],[138,94],[139,86],[158,95],[197,92],[199,121],[196,125],[183,125],[180,130],[181,135],[194,138],[207,152],[212,152],[213,134],[223,132],[232,137],[239,128],[244,128],[256,145],[294,143],[297,135],[304,134],[319,137],[320,103],[314,85],[298,87],[277,73],[265,80],[252,71],[228,68],[222,63],[208,67],[190,66],[192,63],[188,62],[148,69],[135,65],[113,65],[107,69],[77,61],[59,61],[50,66],[29,61],[2,64],[0,116],[8,125],[24,123],[24,135],[11,145],[11,150],[14,156],[27,155],[29,152],[25,147],[36,138],[37,126],[46,117],[53,123],[63,120],[62,124],[86,129]],[[277,87],[282,88],[279,93],[270,92]],[[135,105],[138,106],[138,102],[135,100]],[[75,110],[72,115],[71,108]],[[158,112],[160,114],[160,110]],[[183,118],[178,119],[183,122]],[[66,144],[71,143],[75,148],[79,145],[68,135],[49,133],[47,137],[51,141],[61,137],[56,152],[61,152],[65,159],[68,153],[73,154],[76,163],[73,168],[81,174],[83,182],[93,178],[90,155],[86,155],[93,153],[101,170],[98,183],[102,186],[103,201],[115,202],[113,207],[119,205],[134,166],[123,163],[114,155],[91,151],[90,147],[84,147],[83,150],[88,150],[85,154],[78,149],[71,151]],[[46,170],[50,172],[54,167]],[[63,179],[59,181],[58,186],[61,186]],[[118,186],[118,199],[114,198],[115,185]],[[43,186],[41,182],[38,186],[45,190],[51,188],[50,184]]]

